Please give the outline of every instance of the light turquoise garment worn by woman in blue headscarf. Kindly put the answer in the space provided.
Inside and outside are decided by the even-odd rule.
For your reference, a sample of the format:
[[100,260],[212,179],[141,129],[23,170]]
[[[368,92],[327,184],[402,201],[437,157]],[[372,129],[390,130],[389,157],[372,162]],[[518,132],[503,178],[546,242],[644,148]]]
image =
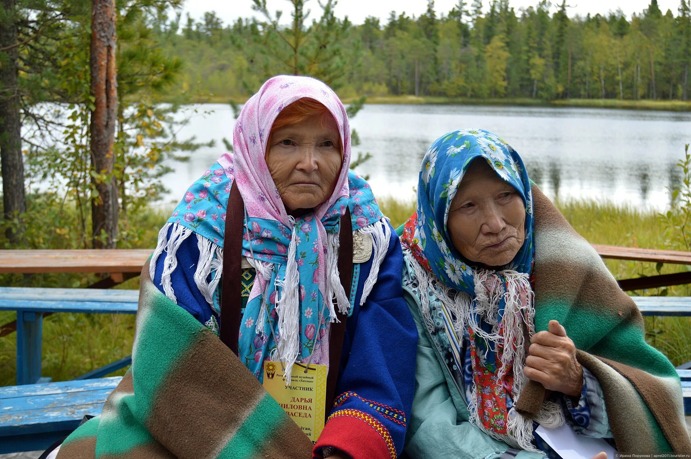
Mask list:
[[[406,256],[403,273],[404,298],[413,314],[419,340],[415,370],[415,398],[406,435],[406,453],[411,459],[499,459],[509,445],[495,440],[469,422],[466,382],[463,371],[449,365],[453,353],[444,327],[434,334],[426,328],[419,312],[422,295],[428,295],[430,307],[439,303],[434,293],[420,292],[410,260]],[[465,352],[463,352],[465,355]],[[578,403],[563,394],[555,394],[567,424],[577,433],[592,438],[612,438],[607,411],[598,380],[583,369],[583,394]],[[558,457],[542,442],[545,454],[520,451],[518,459]]]

